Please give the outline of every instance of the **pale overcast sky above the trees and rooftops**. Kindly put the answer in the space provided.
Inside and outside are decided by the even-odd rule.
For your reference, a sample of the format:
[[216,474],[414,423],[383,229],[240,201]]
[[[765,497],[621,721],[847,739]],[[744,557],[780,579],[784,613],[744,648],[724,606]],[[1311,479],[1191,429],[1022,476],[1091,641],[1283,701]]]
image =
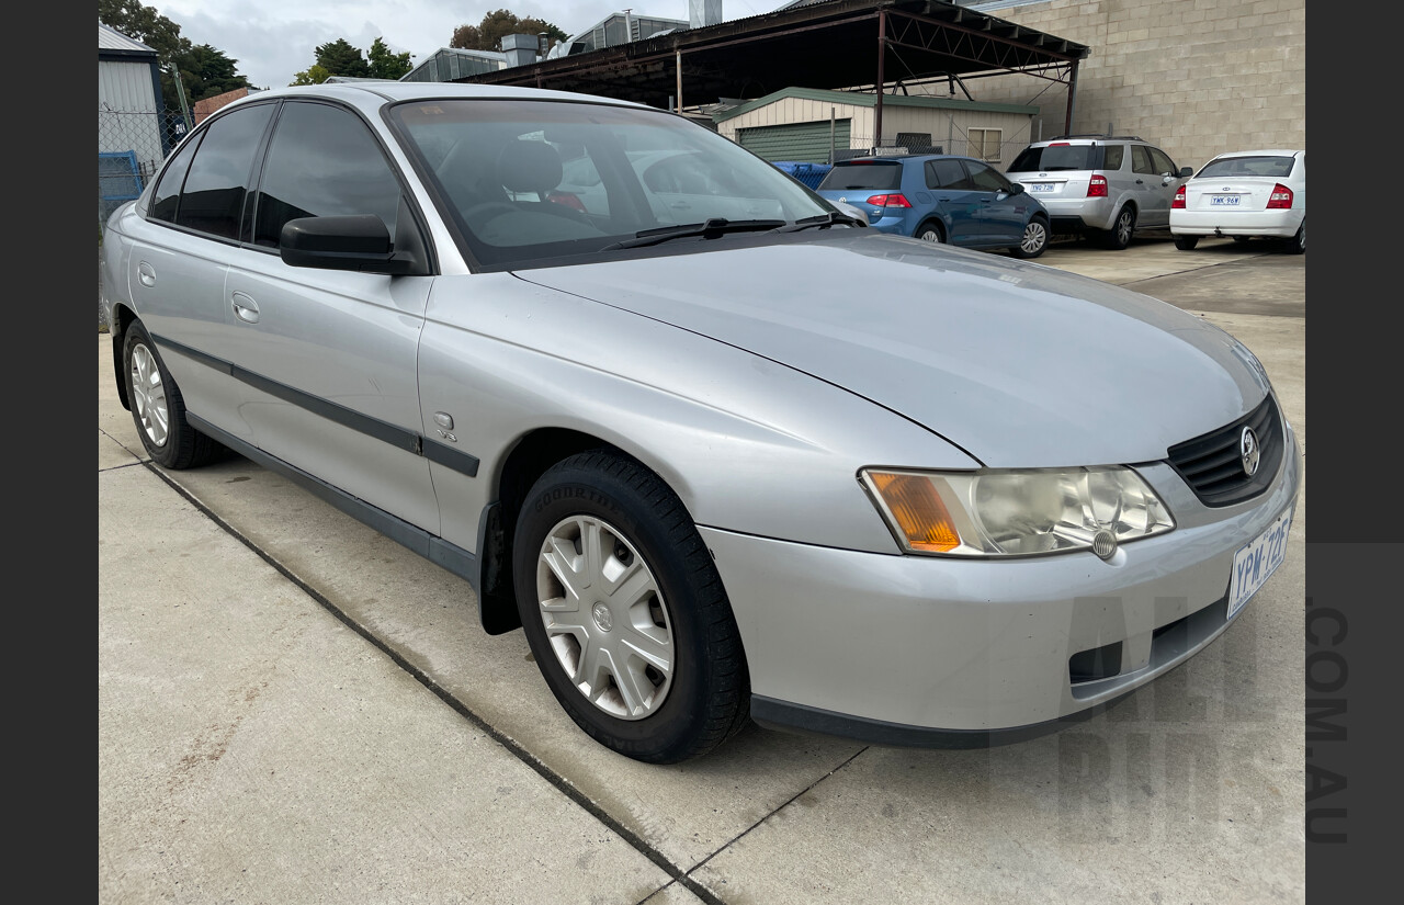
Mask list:
[[[722,0],[722,18],[771,13],[786,1]],[[260,88],[288,84],[316,62],[316,46],[337,38],[362,51],[382,38],[395,52],[414,53],[417,65],[446,48],[455,28],[477,25],[491,10],[542,18],[569,35],[626,7],[637,15],[688,18],[688,0],[154,0],[146,6],[180,25],[180,34],[192,43],[213,45],[239,60],[240,74]]]

